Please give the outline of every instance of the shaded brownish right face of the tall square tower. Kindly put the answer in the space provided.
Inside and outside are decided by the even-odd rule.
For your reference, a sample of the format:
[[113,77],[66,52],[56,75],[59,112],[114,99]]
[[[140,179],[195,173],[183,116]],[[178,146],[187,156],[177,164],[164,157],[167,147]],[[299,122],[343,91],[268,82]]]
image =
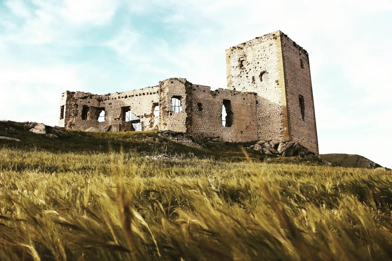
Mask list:
[[[283,33],[281,46],[291,140],[301,143],[310,151],[318,154],[308,53]],[[299,95],[303,97],[305,105],[302,113]]]

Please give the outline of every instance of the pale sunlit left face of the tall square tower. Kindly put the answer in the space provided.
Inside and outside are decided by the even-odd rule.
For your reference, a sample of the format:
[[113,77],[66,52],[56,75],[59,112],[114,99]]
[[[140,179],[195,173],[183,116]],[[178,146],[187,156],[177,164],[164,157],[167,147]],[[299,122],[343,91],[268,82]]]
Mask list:
[[289,140],[279,38],[278,31],[226,50],[227,88],[257,93],[257,131],[263,140]]

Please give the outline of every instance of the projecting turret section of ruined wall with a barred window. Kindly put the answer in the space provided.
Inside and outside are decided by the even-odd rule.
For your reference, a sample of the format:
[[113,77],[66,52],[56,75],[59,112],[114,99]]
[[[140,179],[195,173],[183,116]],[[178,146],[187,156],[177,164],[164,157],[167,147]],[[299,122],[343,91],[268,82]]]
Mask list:
[[[160,92],[160,113],[159,113],[159,129],[172,130],[176,132],[187,132],[187,93],[185,87],[189,82],[185,78],[170,78],[159,82]],[[181,111],[173,112],[171,103],[173,96],[180,98]]]

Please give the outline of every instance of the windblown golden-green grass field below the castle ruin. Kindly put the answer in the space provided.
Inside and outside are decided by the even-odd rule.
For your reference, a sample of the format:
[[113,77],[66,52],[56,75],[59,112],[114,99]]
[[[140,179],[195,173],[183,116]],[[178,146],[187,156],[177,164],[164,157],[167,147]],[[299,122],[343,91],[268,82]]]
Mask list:
[[392,259],[391,171],[69,133],[0,124],[1,260]]

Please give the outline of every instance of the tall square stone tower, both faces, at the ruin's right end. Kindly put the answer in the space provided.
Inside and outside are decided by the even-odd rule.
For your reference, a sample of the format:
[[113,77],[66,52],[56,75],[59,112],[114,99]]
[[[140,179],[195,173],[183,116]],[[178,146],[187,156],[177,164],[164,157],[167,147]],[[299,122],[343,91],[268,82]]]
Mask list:
[[227,49],[226,66],[228,89],[257,93],[259,139],[296,141],[318,154],[307,51],[276,31]]

